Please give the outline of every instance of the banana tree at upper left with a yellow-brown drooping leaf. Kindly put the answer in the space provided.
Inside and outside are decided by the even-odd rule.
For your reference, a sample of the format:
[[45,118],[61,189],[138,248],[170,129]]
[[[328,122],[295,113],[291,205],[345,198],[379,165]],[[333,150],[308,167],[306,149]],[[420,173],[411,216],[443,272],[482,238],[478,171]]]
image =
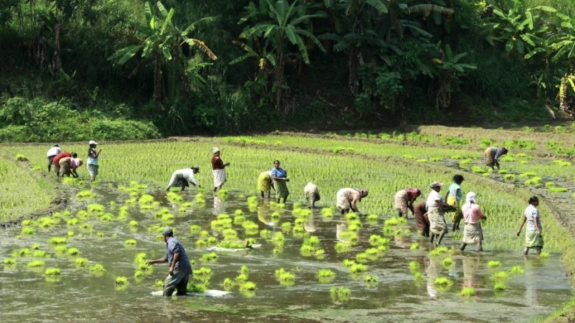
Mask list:
[[[190,66],[191,64],[205,66],[204,63],[197,63],[189,58],[189,53],[184,52],[184,44],[186,47],[203,51],[212,60],[217,60],[218,57],[202,40],[189,37],[199,23],[209,23],[215,20],[214,17],[201,18],[185,29],[179,29],[172,24],[172,18],[175,14],[174,8],[170,8],[168,11],[160,1],[157,1],[156,8],[157,12],[153,10],[149,2],[144,3],[146,24],[128,22],[136,31],[136,34],[129,38],[134,44],[118,49],[108,57],[108,60],[123,65],[140,53],[140,62],[129,75],[136,75],[142,66],[153,64],[153,99],[160,101],[166,96],[168,98],[175,97],[176,80],[179,75],[185,75],[187,70],[194,70],[194,66]],[[164,79],[168,81],[169,95],[166,94]],[[181,79],[186,79],[186,77],[181,77]],[[187,86],[188,84],[184,82],[183,85]]]

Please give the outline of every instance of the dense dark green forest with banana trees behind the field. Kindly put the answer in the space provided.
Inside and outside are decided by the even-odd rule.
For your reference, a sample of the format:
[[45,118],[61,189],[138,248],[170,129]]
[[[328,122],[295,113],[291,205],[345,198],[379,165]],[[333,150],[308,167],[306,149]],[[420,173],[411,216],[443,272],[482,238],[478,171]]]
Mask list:
[[[5,3],[0,105],[65,98],[164,134],[573,114],[567,0]],[[138,127],[122,138],[157,135]]]

